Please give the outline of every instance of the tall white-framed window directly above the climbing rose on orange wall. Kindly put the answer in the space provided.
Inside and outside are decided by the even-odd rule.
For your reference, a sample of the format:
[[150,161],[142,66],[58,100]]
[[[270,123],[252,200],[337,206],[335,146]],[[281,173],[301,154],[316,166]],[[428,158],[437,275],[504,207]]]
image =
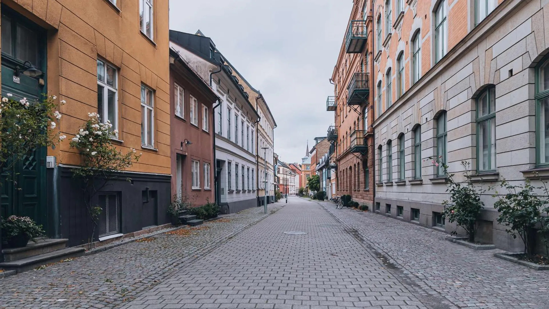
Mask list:
[[113,125],[117,130],[118,119],[118,70],[112,65],[97,59],[97,113],[102,122]]

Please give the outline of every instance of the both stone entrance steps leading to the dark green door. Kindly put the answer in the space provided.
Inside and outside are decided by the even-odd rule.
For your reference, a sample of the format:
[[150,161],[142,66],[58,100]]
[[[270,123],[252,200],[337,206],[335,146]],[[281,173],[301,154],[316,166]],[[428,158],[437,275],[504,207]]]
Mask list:
[[85,249],[82,247],[67,248],[67,241],[68,239],[42,238],[37,239],[37,242],[29,241],[26,247],[3,249],[4,262],[0,263],[0,268],[20,273],[84,254]]

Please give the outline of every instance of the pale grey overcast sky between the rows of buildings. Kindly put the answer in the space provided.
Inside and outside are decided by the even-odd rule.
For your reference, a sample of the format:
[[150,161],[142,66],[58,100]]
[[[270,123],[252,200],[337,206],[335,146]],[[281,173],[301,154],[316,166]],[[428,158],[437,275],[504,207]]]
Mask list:
[[351,9],[351,0],[170,0],[170,29],[212,38],[264,95],[278,125],[275,152],[300,162],[306,141],[334,122],[328,79]]

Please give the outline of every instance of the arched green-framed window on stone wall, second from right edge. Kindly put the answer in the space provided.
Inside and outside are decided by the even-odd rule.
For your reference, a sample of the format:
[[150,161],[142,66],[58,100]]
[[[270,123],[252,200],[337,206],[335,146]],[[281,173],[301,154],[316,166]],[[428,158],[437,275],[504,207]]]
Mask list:
[[477,98],[477,169],[496,169],[496,88],[486,89]]

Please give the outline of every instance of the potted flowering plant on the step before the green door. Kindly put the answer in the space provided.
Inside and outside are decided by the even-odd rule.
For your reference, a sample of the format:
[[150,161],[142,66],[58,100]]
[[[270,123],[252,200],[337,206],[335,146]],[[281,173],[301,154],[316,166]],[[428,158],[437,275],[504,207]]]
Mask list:
[[29,217],[9,216],[2,219],[2,236],[12,248],[25,247],[29,240],[44,236],[42,225],[37,225]]

